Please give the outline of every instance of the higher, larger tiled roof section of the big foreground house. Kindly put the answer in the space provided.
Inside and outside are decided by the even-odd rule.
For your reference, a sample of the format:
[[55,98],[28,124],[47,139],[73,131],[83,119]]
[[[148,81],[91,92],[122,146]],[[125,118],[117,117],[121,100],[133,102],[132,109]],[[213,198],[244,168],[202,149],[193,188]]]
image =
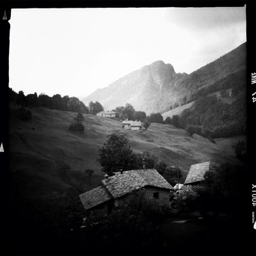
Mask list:
[[130,170],[116,173],[108,179],[102,180],[103,186],[113,198],[124,196],[145,186],[172,189],[164,177],[154,169]]

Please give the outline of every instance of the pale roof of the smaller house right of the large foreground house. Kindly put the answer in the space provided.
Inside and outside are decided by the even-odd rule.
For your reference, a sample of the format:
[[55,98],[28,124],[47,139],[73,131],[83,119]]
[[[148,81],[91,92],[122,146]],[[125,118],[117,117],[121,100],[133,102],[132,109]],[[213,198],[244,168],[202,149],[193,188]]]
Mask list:
[[184,184],[203,181],[205,172],[215,168],[220,168],[220,164],[212,163],[212,161],[191,165]]

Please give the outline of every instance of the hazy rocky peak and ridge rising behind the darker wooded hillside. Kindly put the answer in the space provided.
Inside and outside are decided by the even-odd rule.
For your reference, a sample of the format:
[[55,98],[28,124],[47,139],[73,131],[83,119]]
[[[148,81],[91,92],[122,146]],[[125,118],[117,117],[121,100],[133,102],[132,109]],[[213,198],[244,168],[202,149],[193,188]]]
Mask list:
[[[232,88],[237,81],[245,81],[245,67],[246,43],[189,75],[176,73],[171,64],[155,61],[96,90],[83,101],[88,104],[97,100],[110,110],[129,102],[147,115],[164,113],[205,93]],[[223,80],[228,80],[228,84]]]

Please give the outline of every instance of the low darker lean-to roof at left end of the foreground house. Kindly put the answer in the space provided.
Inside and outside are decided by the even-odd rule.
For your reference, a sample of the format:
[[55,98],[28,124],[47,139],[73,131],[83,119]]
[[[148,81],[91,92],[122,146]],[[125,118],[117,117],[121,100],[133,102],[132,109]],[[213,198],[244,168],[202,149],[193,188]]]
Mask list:
[[79,197],[84,205],[84,209],[86,210],[102,204],[112,198],[108,191],[102,186],[87,191],[79,195]]

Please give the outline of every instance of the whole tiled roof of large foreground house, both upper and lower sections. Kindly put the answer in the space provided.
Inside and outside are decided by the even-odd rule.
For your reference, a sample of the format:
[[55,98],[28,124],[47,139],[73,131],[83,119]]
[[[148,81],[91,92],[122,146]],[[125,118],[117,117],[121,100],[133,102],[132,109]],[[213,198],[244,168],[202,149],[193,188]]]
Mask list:
[[155,169],[130,170],[102,180],[102,186],[79,195],[84,209],[88,210],[113,198],[127,195],[146,186],[173,189]]

